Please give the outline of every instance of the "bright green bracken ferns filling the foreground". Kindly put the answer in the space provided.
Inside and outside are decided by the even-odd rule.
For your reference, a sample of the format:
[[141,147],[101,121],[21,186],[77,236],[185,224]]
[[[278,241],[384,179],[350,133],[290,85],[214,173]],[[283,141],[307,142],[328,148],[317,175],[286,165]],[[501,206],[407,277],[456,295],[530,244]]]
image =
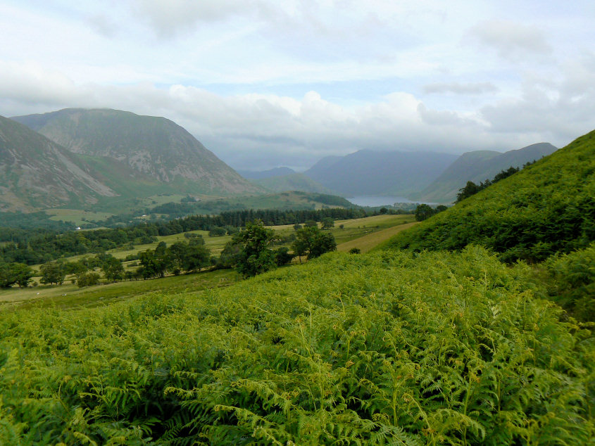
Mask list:
[[0,317],[0,443],[586,445],[595,347],[529,267],[324,255],[225,289]]

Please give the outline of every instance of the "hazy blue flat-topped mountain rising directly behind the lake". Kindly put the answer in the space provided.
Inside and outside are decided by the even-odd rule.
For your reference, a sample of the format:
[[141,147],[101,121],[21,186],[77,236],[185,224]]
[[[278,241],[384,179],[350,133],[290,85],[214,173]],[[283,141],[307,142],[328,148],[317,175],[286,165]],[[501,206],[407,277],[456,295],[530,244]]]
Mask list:
[[361,150],[322,158],[304,174],[345,196],[409,196],[424,189],[457,155]]

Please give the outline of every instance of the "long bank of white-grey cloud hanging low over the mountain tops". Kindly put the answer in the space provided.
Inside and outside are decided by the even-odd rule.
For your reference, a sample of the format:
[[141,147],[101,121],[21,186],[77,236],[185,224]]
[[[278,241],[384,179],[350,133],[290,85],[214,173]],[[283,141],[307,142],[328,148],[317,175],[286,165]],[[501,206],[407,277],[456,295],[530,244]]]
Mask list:
[[[436,90],[490,89],[489,83]],[[470,87],[471,86],[471,87]],[[187,84],[75,82],[35,63],[0,62],[0,114],[106,107],[168,117],[236,168],[305,169],[326,155],[374,150],[510,150],[539,141],[556,146],[595,127],[595,56],[566,64],[559,79],[525,75],[519,95],[489,96],[472,110],[425,103],[394,91],[349,106],[308,91],[215,94]]]

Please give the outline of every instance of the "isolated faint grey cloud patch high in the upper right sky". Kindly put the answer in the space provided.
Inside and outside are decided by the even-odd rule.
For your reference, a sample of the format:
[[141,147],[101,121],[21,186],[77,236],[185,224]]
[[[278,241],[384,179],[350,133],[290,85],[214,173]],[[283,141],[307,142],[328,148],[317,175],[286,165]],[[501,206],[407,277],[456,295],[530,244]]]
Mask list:
[[553,51],[542,30],[507,20],[484,21],[472,27],[468,35],[509,60],[549,55]]

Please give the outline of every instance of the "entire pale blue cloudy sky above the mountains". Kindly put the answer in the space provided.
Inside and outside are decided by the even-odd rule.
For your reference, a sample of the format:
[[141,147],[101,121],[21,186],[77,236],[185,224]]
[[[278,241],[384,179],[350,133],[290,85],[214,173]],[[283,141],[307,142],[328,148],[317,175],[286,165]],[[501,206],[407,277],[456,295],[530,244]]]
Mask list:
[[0,0],[0,115],[167,117],[236,169],[561,147],[595,129],[595,1]]

